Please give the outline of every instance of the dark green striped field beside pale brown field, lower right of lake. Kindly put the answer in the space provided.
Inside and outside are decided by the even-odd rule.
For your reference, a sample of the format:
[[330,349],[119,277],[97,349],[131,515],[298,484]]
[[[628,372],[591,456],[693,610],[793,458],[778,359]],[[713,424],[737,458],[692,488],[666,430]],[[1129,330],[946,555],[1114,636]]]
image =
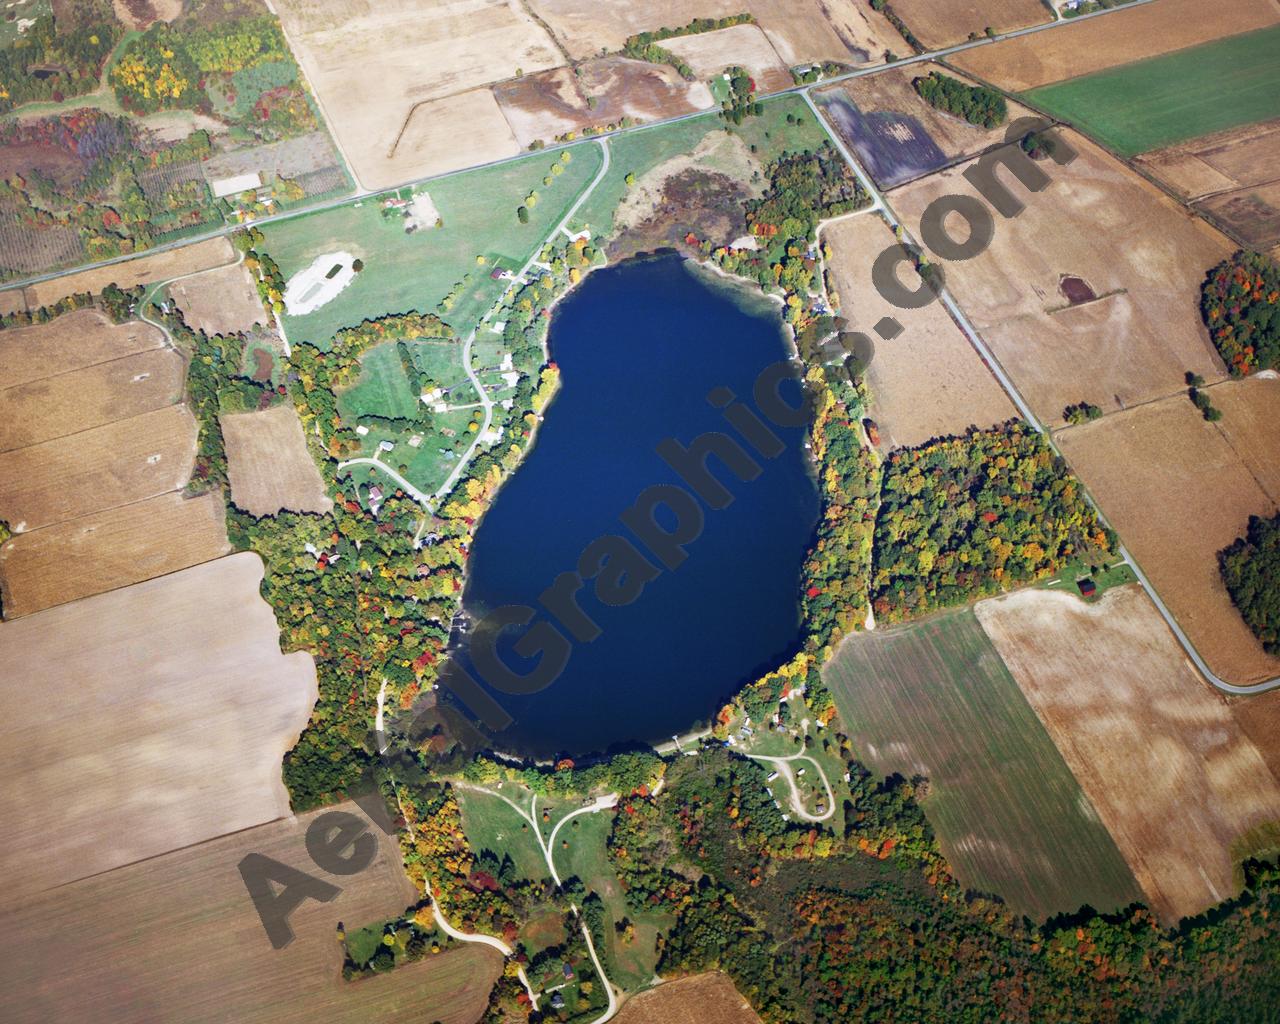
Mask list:
[[878,774],[922,801],[957,878],[1044,919],[1138,896],[1133,876],[972,611],[858,634],[823,677]]

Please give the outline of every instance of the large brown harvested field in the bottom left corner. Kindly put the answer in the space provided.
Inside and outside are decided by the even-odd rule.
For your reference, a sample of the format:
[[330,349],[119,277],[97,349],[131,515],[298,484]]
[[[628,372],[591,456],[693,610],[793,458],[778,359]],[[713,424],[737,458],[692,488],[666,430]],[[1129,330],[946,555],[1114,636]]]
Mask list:
[[[361,815],[355,804],[328,810]],[[474,1024],[502,968],[483,946],[343,982],[338,923],[394,918],[417,893],[396,838],[374,827],[379,852],[370,867],[353,876],[317,869],[303,836],[319,813],[86,878],[6,910],[0,1018],[78,1020],[92,1006],[102,1024]],[[307,900],[289,918],[293,942],[274,950],[237,869],[247,854],[342,892],[328,904]]]

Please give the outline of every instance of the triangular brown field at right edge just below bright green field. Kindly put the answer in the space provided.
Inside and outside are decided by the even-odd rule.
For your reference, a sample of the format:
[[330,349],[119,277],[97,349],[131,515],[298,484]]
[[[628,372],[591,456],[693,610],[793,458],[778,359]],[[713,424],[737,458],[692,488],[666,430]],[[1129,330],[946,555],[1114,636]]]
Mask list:
[[1137,163],[1253,248],[1280,242],[1280,119],[1215,132]]

